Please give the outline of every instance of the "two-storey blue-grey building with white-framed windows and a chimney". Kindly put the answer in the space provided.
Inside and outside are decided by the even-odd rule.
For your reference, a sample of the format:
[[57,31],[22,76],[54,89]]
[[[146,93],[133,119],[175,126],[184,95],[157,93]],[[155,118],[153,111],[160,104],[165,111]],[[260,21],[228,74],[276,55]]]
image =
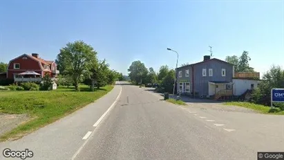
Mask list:
[[233,64],[205,55],[202,62],[179,67],[177,73],[179,93],[215,99],[232,96]]

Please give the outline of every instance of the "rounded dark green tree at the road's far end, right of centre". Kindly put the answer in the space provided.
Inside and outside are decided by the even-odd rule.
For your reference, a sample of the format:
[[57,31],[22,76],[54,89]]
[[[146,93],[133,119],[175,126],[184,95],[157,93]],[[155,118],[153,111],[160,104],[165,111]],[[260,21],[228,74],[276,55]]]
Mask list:
[[148,69],[140,60],[132,62],[128,71],[130,72],[129,77],[131,81],[135,82],[136,85],[138,85],[141,81],[144,82],[144,80],[146,80]]

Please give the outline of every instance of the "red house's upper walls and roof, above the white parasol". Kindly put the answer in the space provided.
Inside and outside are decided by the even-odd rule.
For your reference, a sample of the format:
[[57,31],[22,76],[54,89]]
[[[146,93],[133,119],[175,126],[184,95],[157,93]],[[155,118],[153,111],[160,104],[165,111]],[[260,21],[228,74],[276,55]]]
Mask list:
[[50,77],[56,77],[57,74],[53,74],[57,70],[56,66],[55,62],[43,60],[36,53],[32,53],[32,55],[23,54],[10,60],[7,78],[13,79],[15,75],[17,76],[17,74],[25,71],[35,71],[39,73],[41,77],[44,77],[46,73],[48,73]]

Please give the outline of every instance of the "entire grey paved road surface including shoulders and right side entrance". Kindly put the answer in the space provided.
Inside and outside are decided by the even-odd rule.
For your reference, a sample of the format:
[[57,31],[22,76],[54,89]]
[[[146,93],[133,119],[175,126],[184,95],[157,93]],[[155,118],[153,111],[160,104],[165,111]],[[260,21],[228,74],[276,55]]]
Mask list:
[[180,107],[161,99],[121,82],[96,103],[0,143],[0,149],[29,148],[32,159],[78,160],[256,159],[258,151],[284,151],[283,116]]

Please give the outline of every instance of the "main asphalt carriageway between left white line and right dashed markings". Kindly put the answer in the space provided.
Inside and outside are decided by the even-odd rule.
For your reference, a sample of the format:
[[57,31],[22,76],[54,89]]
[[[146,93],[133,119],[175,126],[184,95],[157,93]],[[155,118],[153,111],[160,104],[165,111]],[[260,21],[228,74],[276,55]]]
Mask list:
[[160,99],[122,85],[119,102],[76,159],[256,159],[256,148],[233,132]]

